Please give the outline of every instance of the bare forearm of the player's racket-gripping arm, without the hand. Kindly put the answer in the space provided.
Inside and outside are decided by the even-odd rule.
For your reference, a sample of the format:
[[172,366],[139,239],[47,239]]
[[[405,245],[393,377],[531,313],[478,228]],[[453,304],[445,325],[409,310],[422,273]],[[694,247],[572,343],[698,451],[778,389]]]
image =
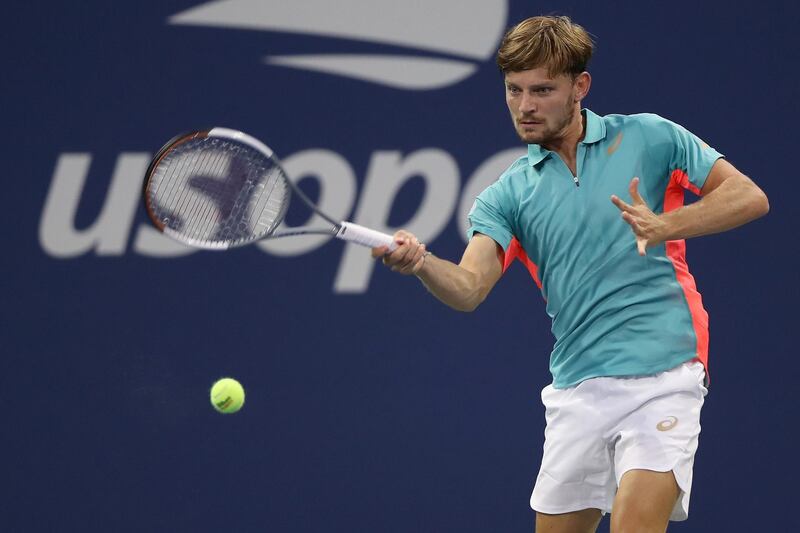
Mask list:
[[457,311],[475,310],[490,290],[481,286],[477,274],[434,255],[425,257],[417,277],[431,294]]

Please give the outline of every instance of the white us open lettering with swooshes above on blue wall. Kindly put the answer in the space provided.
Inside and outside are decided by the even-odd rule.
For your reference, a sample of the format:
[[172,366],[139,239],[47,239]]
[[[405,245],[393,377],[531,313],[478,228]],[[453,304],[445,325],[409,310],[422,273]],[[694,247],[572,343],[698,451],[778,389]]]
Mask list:
[[[493,56],[507,14],[506,2],[497,0],[471,5],[469,9],[452,0],[413,6],[378,0],[342,0],[330,4],[307,0],[292,3],[291,8],[286,5],[289,4],[268,0],[218,0],[178,13],[169,21],[397,46],[404,50],[403,55],[273,55],[264,61],[394,88],[431,90],[458,83],[474,72],[480,62]],[[422,178],[423,197],[414,214],[401,226],[431,243],[454,218],[459,234],[465,239],[466,215],[475,196],[524,153],[523,147],[501,150],[464,174],[456,158],[440,148],[419,148],[410,153],[382,149],[370,155],[360,180],[351,163],[331,150],[302,150],[287,154],[283,162],[295,182],[304,178],[318,182],[318,203],[323,211],[385,233],[399,229],[390,227],[389,213],[400,189],[409,180]],[[89,253],[121,256],[132,252],[156,258],[195,253],[196,250],[168,239],[150,224],[135,220],[141,201],[141,179],[151,155],[120,153],[111,175],[103,179],[108,182],[105,198],[99,205],[89,207],[97,213],[93,222],[78,227],[76,217],[87,188],[93,155],[60,154],[39,225],[39,242],[45,253],[61,259]],[[270,255],[297,256],[313,252],[329,239],[311,236],[265,240],[255,247]],[[374,268],[375,261],[360,246],[343,246],[333,291],[365,292]]]

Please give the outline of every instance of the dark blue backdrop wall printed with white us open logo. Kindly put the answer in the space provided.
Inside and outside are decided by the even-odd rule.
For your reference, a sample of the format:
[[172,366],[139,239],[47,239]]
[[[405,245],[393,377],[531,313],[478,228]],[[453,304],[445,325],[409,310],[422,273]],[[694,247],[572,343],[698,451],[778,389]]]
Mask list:
[[[521,151],[493,51],[551,12],[596,36],[588,107],[686,126],[771,201],[688,243],[713,379],[691,516],[671,530],[800,527],[800,9],[468,4],[10,8],[0,530],[531,531],[553,338],[524,268],[461,314],[338,241],[187,253],[148,227],[138,194],[169,137],[228,126],[334,214],[407,226],[457,260],[472,198]],[[224,375],[248,393],[234,416],[208,403]]]

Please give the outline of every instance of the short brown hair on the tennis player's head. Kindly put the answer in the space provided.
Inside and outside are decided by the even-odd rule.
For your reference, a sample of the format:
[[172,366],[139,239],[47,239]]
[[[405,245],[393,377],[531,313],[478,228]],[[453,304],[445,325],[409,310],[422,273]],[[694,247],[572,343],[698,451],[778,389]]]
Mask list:
[[586,70],[593,51],[589,33],[569,17],[531,17],[503,37],[497,65],[504,74],[547,67],[551,77],[574,77]]

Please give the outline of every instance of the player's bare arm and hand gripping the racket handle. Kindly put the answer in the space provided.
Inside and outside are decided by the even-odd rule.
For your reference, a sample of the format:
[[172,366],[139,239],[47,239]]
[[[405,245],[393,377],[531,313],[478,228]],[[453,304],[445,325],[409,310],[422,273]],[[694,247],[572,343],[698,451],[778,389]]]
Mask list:
[[412,234],[395,234],[397,248],[374,248],[373,257],[396,272],[416,275],[428,291],[458,311],[473,311],[486,299],[503,274],[503,249],[494,239],[476,233],[470,239],[459,264],[440,259],[425,251]]

